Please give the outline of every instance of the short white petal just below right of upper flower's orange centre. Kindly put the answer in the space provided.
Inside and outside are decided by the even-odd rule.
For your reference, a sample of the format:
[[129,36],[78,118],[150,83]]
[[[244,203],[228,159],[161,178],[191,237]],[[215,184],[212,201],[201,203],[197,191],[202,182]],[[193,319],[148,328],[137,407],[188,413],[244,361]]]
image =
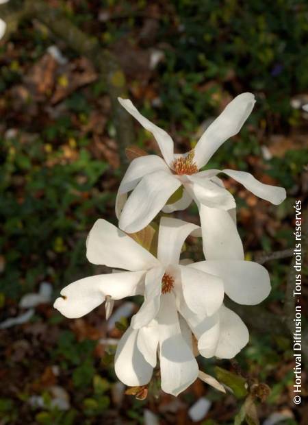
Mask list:
[[229,210],[235,208],[235,199],[227,189],[211,182],[209,178],[202,178],[195,175],[187,176],[187,183],[183,183],[188,193],[198,199],[198,202],[208,206],[209,208],[219,208]]

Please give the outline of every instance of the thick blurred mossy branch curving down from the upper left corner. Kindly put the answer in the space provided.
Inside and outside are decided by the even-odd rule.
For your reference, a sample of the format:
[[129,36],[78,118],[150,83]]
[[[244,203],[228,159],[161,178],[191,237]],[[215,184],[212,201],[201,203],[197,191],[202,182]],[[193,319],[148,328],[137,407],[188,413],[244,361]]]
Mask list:
[[81,56],[88,58],[105,79],[107,90],[112,101],[112,112],[116,127],[120,161],[126,167],[127,158],[125,149],[133,140],[133,125],[131,117],[118,103],[118,97],[126,96],[126,82],[123,71],[118,66],[112,54],[102,49],[96,38],[88,36],[71,23],[57,8],[53,8],[42,0],[10,0],[0,8],[1,17],[8,24],[8,35],[14,32],[21,19],[36,18],[57,36],[66,42],[66,45]]

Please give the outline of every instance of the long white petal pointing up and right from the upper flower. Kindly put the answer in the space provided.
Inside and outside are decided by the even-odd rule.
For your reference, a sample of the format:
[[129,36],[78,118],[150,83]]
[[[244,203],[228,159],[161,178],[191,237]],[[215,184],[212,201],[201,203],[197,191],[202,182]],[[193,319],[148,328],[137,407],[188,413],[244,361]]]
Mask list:
[[255,104],[252,93],[242,93],[224,108],[216,120],[209,125],[194,148],[194,160],[200,169],[216,152],[218,147],[235,136],[251,114]]

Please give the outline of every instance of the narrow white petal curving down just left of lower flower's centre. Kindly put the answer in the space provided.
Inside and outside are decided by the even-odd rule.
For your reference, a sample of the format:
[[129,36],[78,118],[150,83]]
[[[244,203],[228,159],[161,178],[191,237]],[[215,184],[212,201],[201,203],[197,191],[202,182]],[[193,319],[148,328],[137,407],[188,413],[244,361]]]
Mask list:
[[132,328],[139,329],[142,326],[146,326],[156,317],[159,311],[164,272],[165,269],[163,267],[157,267],[149,270],[146,274],[144,303],[138,313],[131,319]]

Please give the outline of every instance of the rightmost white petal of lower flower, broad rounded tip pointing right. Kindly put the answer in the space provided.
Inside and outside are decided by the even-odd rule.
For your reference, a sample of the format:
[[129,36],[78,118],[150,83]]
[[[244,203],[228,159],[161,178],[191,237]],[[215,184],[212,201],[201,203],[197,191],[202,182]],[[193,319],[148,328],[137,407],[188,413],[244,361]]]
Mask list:
[[270,276],[265,267],[253,261],[209,260],[190,267],[219,276],[224,292],[239,304],[253,306],[270,293]]

